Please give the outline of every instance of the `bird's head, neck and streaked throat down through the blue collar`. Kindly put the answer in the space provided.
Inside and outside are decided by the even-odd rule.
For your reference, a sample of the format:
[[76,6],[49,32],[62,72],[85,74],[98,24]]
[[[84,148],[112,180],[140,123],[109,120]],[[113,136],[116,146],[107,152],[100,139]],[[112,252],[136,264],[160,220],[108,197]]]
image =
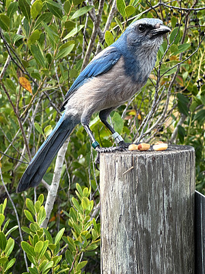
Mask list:
[[131,75],[133,81],[147,81],[163,42],[163,34],[170,31],[159,19],[143,18],[129,25],[111,45],[124,55],[126,74]]

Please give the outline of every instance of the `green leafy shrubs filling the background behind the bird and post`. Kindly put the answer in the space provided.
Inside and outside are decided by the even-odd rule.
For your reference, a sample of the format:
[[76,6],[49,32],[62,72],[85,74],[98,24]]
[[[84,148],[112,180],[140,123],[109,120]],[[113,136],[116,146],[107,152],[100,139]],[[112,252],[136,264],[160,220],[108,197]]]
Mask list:
[[[94,169],[93,164],[96,152],[91,149],[90,140],[81,125],[78,125],[70,136],[66,162],[61,172],[59,191],[48,230],[39,227],[44,218],[42,197],[35,207],[33,189],[20,195],[15,192],[29,162],[19,119],[29,143],[29,151],[33,156],[55,127],[60,117],[59,106],[81,71],[94,28],[94,16],[98,14],[98,3],[94,1],[87,5],[82,0],[0,1],[1,31],[10,47],[12,59],[18,63],[17,66],[13,60],[10,62],[0,82],[1,171],[5,185],[16,205],[20,225],[25,227],[24,241],[20,244],[16,216],[10,201],[3,210],[3,201],[7,195],[0,182],[0,203],[2,204],[0,272],[4,269],[3,273],[11,271],[27,273],[23,258],[23,250],[25,250],[29,265],[31,266],[33,262],[33,268],[29,268],[29,273],[51,273],[51,269],[53,273],[69,273],[72,262],[74,262],[74,268],[70,273],[83,271],[87,274],[100,273],[99,210],[93,210],[93,207],[98,209],[99,204],[99,172]],[[193,1],[180,3],[184,9],[191,8],[193,5]],[[194,8],[202,8],[205,5],[204,1],[194,3]],[[172,5],[171,8],[166,5],[159,6],[159,1],[152,1],[152,6],[156,5],[156,8],[152,8],[150,2],[146,1],[117,0],[111,25],[104,32],[112,4],[113,1],[104,3],[100,30],[90,53],[90,60],[94,58],[96,51],[100,51],[118,39],[126,26],[137,18],[156,18],[158,14],[165,25],[172,28],[172,32],[164,40],[157,55],[156,69],[160,69],[160,82],[157,82],[156,70],[152,71],[150,79],[139,95],[131,103],[125,103],[111,113],[111,123],[127,142],[133,142],[138,138],[143,119],[146,118],[152,106],[154,85],[159,84],[161,101],[152,115],[150,124],[144,129],[146,132],[148,127],[154,125],[161,117],[167,102],[167,90],[174,79],[174,73],[177,72],[169,94],[166,119],[163,123],[156,125],[149,134],[143,136],[143,140],[151,144],[158,140],[165,142],[172,140],[174,144],[193,146],[196,156],[196,188],[205,193],[204,42],[196,51],[199,41],[204,36],[204,10],[181,11],[177,1],[167,3]],[[20,32],[19,28],[21,28]],[[172,45],[166,51],[167,45],[170,44]],[[196,53],[191,55],[194,51]],[[161,60],[162,57],[163,60]],[[7,59],[8,50],[0,39],[0,73]],[[178,69],[176,64],[182,60],[185,61]],[[20,71],[19,66],[24,73]],[[33,95],[20,86],[19,76],[29,79]],[[5,90],[10,96],[10,101]],[[111,134],[100,122],[98,115],[92,117],[90,127],[100,145],[105,147],[113,145]],[[172,138],[176,128],[178,128],[176,137]],[[44,176],[49,184],[53,177],[54,166],[55,161],[49,166]],[[42,184],[38,186],[37,193],[38,195],[44,193],[46,197]],[[39,216],[38,204],[42,205]],[[10,219],[9,223],[8,219]],[[87,227],[82,226],[83,222],[86,225],[90,219],[92,223]],[[31,225],[34,223],[37,224],[36,227]],[[3,226],[6,227],[2,229]],[[10,232],[11,236],[10,233],[6,234],[12,228],[15,229],[12,233]],[[59,232],[61,232],[60,236]],[[15,239],[15,245],[12,239]],[[83,247],[82,242],[86,241],[87,245]],[[82,252],[78,254],[77,249]],[[46,256],[41,253],[42,250],[45,251]],[[59,258],[59,250],[62,258]],[[38,263],[41,258],[44,258],[45,262],[42,260],[40,266]],[[49,265],[48,260],[52,261]]]

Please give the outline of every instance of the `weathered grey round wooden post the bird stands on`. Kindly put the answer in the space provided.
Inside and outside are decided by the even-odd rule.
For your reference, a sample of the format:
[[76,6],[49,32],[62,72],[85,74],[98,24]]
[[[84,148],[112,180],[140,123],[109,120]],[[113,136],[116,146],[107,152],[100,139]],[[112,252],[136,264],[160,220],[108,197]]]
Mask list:
[[100,154],[101,274],[194,274],[194,194],[193,147]]

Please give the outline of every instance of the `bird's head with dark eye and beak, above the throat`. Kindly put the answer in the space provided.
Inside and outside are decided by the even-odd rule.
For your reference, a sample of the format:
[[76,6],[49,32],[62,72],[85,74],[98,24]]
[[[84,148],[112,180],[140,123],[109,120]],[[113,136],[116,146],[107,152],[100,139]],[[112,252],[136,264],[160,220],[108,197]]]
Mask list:
[[170,31],[171,29],[163,25],[163,22],[159,19],[143,18],[129,25],[120,38],[122,40],[126,39],[128,48],[136,49],[140,45],[146,50],[158,50],[163,42],[163,34]]

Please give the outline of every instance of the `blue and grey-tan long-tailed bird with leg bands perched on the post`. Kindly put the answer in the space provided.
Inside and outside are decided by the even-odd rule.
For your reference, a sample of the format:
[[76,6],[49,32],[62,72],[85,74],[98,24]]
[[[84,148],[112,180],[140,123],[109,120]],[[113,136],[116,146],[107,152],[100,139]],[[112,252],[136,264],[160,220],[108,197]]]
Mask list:
[[[16,192],[40,184],[53,158],[79,123],[98,153],[126,147],[120,134],[107,122],[107,117],[146,84],[163,42],[163,34],[170,30],[159,19],[140,19],[96,55],[68,90],[60,109],[64,114],[27,166]],[[96,112],[120,147],[100,147],[89,127],[91,116]]]

